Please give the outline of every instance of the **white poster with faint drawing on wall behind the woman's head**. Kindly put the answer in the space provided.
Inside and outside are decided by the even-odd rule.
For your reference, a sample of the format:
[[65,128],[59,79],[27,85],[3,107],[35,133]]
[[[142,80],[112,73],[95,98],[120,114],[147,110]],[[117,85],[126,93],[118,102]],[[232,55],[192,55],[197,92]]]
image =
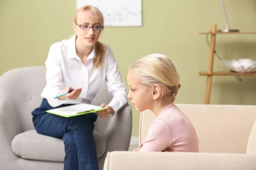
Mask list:
[[91,5],[104,17],[104,26],[142,26],[142,0],[76,0],[76,9]]

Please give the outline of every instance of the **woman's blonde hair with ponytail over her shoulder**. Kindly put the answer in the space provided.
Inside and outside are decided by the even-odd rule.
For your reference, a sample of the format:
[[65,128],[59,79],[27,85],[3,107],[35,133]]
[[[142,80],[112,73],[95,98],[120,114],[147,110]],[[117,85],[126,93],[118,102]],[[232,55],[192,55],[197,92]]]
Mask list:
[[[82,6],[81,8],[76,10],[74,23],[77,22],[77,15],[81,11],[90,11],[90,16],[93,17],[95,20],[98,20],[101,26],[104,26],[104,19],[101,11],[94,6]],[[105,48],[104,45],[97,41],[95,44],[95,51],[96,51],[96,59],[93,60],[94,67],[98,68],[99,66],[102,67],[103,65],[103,58],[105,56]]]

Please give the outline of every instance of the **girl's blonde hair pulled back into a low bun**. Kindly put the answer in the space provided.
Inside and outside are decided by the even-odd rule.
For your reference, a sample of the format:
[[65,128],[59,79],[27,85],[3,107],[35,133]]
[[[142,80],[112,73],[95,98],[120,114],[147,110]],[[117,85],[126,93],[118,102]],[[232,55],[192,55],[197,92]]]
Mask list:
[[141,83],[152,88],[159,85],[161,88],[160,105],[168,105],[174,102],[180,88],[180,78],[175,64],[169,57],[163,54],[150,54],[129,67],[139,74]]

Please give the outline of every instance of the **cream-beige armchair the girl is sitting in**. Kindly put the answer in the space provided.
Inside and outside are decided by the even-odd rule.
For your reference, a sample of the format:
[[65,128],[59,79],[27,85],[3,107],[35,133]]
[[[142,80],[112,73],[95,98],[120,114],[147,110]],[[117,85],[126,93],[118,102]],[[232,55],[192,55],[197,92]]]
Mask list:
[[[104,170],[256,170],[256,106],[177,106],[195,126],[200,153],[111,152]],[[154,119],[140,114],[140,142]]]

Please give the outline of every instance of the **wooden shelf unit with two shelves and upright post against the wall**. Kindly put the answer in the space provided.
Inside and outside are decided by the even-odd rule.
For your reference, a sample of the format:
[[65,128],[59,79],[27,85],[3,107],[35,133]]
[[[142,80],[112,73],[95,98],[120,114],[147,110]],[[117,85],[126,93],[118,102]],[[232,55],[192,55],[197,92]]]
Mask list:
[[206,96],[205,96],[205,104],[209,105],[210,102],[210,93],[211,93],[211,86],[212,86],[212,76],[256,76],[256,73],[234,73],[234,72],[213,72],[213,58],[214,58],[214,51],[215,51],[215,41],[217,34],[256,34],[256,31],[250,32],[218,32],[216,24],[212,25],[212,31],[209,32],[201,32],[201,35],[211,35],[210,41],[210,50],[209,50],[209,64],[208,64],[208,71],[207,72],[200,72],[200,76],[207,76],[207,85],[206,85]]

